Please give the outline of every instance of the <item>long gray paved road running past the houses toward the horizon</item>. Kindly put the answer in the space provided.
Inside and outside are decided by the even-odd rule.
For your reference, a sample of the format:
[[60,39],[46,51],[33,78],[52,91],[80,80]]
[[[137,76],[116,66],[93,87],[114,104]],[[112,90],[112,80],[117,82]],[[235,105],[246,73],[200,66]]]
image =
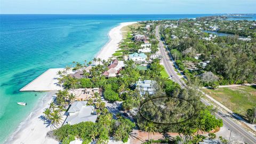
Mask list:
[[[173,62],[170,60],[171,58],[168,55],[168,52],[164,49],[164,44],[163,41],[161,41],[161,38],[159,36],[159,26],[156,27],[156,37],[159,41],[159,51],[161,52],[162,56],[163,56],[163,64],[164,67],[167,71],[167,73],[169,74],[169,76],[173,75],[173,81],[177,82],[179,85],[181,85],[181,87],[185,87],[185,83],[183,83],[181,81],[181,79],[179,78],[179,76],[175,73],[174,71],[174,64]],[[203,103],[205,103],[205,105],[210,105],[209,102],[205,101],[204,99],[201,100]],[[232,132],[237,133],[239,135],[241,135],[241,137],[243,137],[243,141],[247,142],[247,143],[256,143],[256,138],[253,137],[252,134],[248,133],[246,130],[243,129],[242,126],[238,125],[237,123],[235,123],[229,115],[224,115],[222,114],[220,111],[218,111],[215,114],[218,118],[221,118],[223,121],[223,125],[225,125],[226,127],[228,127],[228,129],[232,130]]]

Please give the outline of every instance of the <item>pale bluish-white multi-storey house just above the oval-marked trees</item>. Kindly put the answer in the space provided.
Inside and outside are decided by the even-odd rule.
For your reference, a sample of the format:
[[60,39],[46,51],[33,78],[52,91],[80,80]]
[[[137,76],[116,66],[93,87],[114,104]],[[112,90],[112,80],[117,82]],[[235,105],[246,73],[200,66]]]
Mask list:
[[156,92],[155,83],[156,82],[152,80],[137,81],[135,86],[140,92],[140,95],[145,95],[146,93],[154,94]]

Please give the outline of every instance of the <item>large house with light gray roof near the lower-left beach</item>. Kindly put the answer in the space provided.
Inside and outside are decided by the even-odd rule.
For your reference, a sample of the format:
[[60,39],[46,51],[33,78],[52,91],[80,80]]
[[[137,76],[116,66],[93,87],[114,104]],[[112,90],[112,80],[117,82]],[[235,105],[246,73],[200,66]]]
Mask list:
[[68,117],[63,124],[78,124],[81,122],[96,122],[97,115],[92,115],[93,106],[86,106],[87,101],[75,101],[68,109]]

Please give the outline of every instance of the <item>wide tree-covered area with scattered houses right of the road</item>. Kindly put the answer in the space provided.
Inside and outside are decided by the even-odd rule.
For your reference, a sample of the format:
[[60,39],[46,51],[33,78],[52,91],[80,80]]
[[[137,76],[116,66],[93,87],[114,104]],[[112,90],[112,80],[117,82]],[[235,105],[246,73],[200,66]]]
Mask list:
[[[163,26],[176,26],[161,27],[161,34],[179,69],[186,71],[187,77],[195,78],[207,71],[212,72],[218,79],[202,83],[213,89],[218,85],[256,82],[256,27],[252,26],[253,21],[206,17],[162,23]],[[210,37],[202,30],[213,30],[213,26],[217,27],[214,31],[236,35]],[[241,40],[237,35],[251,37],[250,40]]]

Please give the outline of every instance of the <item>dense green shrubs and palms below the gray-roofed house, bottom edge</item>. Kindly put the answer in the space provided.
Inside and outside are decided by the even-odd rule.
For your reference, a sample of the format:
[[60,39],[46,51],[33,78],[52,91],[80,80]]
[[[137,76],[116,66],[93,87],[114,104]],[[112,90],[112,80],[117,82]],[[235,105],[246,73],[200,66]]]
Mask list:
[[95,140],[97,143],[107,143],[109,136],[115,140],[127,142],[129,133],[135,127],[129,119],[123,117],[115,120],[112,115],[100,115],[98,122],[82,122],[75,125],[63,125],[53,130],[53,135],[59,141],[68,142],[74,137],[81,138],[83,143]]

